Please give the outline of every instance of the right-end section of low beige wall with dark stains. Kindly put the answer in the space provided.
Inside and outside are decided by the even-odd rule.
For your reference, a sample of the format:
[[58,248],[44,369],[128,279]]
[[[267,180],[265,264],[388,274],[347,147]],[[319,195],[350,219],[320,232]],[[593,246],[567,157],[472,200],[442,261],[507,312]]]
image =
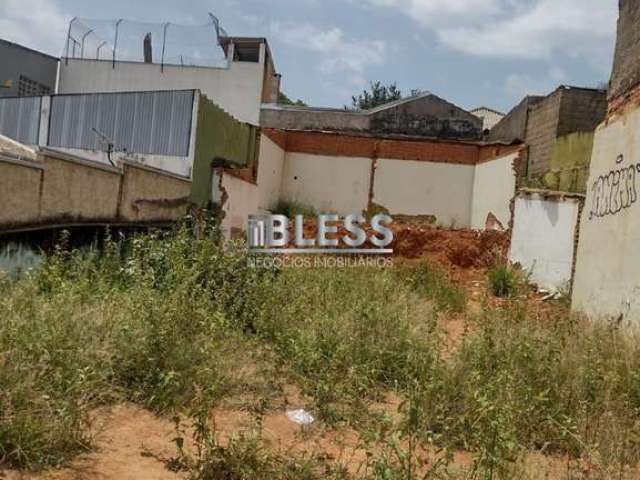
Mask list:
[[191,182],[143,165],[126,163],[119,218],[127,222],[170,222],[187,213]]

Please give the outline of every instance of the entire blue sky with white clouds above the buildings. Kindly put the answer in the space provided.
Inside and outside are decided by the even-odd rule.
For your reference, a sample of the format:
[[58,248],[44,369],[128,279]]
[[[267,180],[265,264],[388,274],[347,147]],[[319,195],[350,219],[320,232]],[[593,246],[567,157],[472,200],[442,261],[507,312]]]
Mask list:
[[74,17],[206,22],[265,36],[283,90],[342,106],[369,80],[508,110],[609,78],[616,0],[0,0],[0,36],[59,55]]

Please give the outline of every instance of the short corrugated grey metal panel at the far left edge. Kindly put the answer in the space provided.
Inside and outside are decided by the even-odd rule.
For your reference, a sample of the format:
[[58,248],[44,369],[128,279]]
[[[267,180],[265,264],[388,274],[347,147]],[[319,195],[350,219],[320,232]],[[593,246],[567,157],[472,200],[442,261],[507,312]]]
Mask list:
[[41,97],[0,98],[0,134],[27,145],[37,145]]

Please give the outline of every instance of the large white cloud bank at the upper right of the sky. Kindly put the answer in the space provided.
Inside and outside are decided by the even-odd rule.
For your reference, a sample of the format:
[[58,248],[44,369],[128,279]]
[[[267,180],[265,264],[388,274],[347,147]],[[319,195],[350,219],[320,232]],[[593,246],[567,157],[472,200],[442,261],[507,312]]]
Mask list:
[[561,52],[603,70],[610,67],[617,18],[613,0],[366,1],[399,9],[464,53],[547,59]]

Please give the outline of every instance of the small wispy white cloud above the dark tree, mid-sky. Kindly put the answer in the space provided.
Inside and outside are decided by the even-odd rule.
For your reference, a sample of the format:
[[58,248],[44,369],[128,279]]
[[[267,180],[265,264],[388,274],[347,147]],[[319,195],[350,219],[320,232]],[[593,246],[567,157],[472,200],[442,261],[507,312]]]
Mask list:
[[304,23],[276,23],[272,34],[289,47],[300,48],[321,55],[319,69],[325,74],[349,72],[351,83],[371,65],[384,62],[386,45],[381,40],[347,38],[338,27],[322,29]]

